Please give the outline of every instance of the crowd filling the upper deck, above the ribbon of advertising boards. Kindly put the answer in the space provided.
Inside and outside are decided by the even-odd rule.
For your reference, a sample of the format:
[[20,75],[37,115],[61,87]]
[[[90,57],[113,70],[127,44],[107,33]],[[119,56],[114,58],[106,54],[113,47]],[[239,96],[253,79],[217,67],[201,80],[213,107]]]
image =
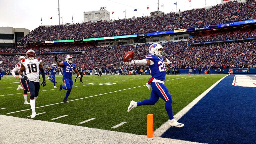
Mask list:
[[174,29],[203,27],[229,22],[255,19],[255,0],[245,3],[232,1],[209,9],[193,9],[181,13],[168,13],[157,17],[139,17],[114,21],[83,22],[77,24],[39,26],[20,42],[110,37]]

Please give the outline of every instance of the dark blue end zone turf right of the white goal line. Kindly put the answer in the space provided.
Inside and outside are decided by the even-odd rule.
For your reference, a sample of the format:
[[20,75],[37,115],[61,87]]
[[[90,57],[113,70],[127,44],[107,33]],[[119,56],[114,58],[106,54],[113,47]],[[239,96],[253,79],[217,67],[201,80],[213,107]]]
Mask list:
[[209,144],[256,143],[256,89],[233,86],[229,75],[161,137]]

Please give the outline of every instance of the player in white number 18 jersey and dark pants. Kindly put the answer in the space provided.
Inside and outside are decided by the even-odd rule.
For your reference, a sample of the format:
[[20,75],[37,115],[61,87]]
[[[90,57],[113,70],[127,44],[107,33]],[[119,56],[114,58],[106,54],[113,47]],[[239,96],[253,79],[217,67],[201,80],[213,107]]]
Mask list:
[[[20,75],[27,83],[28,91],[30,94],[30,107],[32,110],[31,118],[35,118],[36,111],[36,99],[38,98],[38,93],[40,89],[39,84],[39,70],[43,78],[41,85],[46,86],[45,73],[42,65],[42,60],[40,58],[36,59],[36,53],[33,50],[28,50],[26,52],[27,59],[21,60]],[[25,71],[25,72],[24,72]],[[24,73],[23,73],[24,72]]]

